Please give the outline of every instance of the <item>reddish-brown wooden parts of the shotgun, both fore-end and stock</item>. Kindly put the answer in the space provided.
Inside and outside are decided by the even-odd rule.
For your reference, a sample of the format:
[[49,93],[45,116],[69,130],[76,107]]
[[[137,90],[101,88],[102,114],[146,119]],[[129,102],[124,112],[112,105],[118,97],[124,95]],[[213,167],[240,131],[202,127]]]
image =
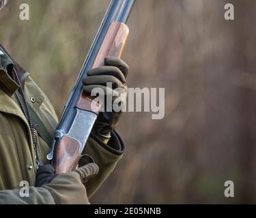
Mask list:
[[[126,46],[128,34],[129,29],[126,24],[116,21],[111,22],[92,68],[103,66],[104,59],[107,56],[121,57]],[[83,91],[81,91],[81,95],[79,99],[77,99],[76,108],[96,114],[100,111],[98,102],[94,102],[94,98],[83,93]],[[87,131],[87,129],[85,129],[85,131]],[[55,173],[70,172],[76,168],[82,152],[80,151],[80,147],[79,141],[68,136],[63,136],[56,142],[53,158]]]

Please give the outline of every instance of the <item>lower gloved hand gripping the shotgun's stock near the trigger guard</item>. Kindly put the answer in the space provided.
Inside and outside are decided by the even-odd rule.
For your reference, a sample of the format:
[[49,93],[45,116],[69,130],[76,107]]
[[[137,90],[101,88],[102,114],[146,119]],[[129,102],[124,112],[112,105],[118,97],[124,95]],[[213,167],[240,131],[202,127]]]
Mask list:
[[98,170],[96,163],[88,163],[72,172],[54,174],[53,166],[46,164],[38,169],[35,186],[50,191],[57,204],[89,204],[83,183]]

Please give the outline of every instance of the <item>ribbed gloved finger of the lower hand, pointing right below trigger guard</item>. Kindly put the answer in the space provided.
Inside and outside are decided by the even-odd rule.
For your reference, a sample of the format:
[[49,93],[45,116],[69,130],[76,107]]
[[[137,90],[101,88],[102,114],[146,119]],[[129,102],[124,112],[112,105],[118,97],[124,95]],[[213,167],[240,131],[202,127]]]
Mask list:
[[77,172],[81,178],[81,181],[87,181],[92,176],[95,176],[99,172],[99,167],[96,163],[88,163],[85,166],[82,166],[81,168],[78,168],[74,170],[74,172]]

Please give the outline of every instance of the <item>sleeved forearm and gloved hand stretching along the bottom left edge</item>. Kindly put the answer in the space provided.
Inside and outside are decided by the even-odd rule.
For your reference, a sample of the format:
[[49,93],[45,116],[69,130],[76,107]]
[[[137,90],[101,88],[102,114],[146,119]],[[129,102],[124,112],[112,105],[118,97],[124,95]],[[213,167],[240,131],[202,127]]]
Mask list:
[[98,173],[96,164],[58,174],[42,187],[0,191],[0,204],[89,204],[82,181]]

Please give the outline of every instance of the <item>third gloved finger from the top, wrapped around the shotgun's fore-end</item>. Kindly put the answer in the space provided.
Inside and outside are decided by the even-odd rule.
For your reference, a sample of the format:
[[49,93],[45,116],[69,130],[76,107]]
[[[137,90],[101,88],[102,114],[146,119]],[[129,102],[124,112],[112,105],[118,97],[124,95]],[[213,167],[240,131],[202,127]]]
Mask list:
[[83,85],[91,85],[91,84],[99,84],[102,86],[106,86],[106,83],[111,83],[109,88],[117,89],[117,88],[124,88],[124,84],[120,82],[115,76],[109,76],[109,75],[101,75],[101,76],[89,76],[83,78]]

